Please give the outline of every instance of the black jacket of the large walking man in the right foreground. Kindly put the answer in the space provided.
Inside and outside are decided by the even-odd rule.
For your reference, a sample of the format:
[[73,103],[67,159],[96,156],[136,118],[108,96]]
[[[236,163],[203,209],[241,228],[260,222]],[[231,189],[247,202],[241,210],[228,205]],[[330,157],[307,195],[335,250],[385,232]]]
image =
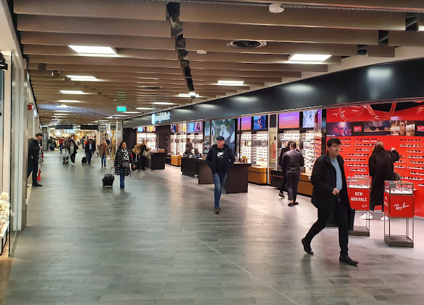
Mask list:
[[[337,161],[342,171],[342,190],[340,190],[339,198],[342,202],[349,203],[342,156],[337,156]],[[312,203],[314,206],[318,208],[331,208],[330,204],[335,196],[332,195],[332,190],[336,187],[336,170],[332,166],[328,154],[316,159],[312,170],[311,182],[314,186],[314,190],[312,191]]]

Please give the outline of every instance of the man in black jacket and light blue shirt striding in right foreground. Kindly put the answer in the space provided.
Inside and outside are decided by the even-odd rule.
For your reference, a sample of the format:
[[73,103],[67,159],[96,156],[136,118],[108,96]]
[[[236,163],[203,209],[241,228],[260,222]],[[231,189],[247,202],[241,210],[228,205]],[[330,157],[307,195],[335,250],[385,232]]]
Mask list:
[[347,195],[346,177],[344,175],[343,158],[339,156],[339,138],[331,137],[327,141],[327,154],[316,159],[312,170],[311,182],[312,203],[318,208],[318,221],[312,225],[307,235],[302,239],[303,248],[311,255],[311,241],[323,228],[330,214],[334,214],[339,227],[340,262],[356,266],[358,262],[348,255],[348,224],[351,207]]

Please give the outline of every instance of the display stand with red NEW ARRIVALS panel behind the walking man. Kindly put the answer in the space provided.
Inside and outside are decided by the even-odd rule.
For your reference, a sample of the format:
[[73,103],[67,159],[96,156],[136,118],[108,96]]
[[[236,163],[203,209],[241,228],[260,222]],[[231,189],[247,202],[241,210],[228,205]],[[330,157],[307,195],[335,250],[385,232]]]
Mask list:
[[[347,182],[347,193],[351,207],[356,211],[370,211],[370,178],[349,177]],[[370,236],[370,219],[365,220],[365,225],[353,225],[349,235]]]

